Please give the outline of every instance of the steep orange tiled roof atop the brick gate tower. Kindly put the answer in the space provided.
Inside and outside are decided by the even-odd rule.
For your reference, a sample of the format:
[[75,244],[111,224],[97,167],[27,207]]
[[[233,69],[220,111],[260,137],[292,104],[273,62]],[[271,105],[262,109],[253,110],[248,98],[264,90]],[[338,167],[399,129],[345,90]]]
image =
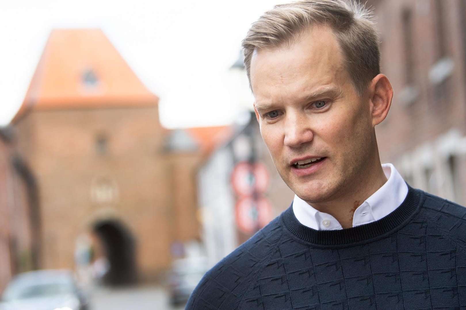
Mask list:
[[13,122],[30,109],[157,104],[102,30],[59,29],[50,33]]

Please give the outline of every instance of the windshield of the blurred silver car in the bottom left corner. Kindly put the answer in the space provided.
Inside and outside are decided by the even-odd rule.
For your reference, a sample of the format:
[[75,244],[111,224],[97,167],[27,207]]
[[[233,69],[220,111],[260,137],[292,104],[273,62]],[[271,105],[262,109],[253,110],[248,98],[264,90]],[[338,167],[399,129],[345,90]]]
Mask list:
[[48,283],[48,284],[36,284],[29,286],[12,286],[9,287],[4,294],[3,299],[6,301],[27,299],[34,297],[46,297],[53,295],[61,295],[70,293],[73,291],[73,287],[67,283]]

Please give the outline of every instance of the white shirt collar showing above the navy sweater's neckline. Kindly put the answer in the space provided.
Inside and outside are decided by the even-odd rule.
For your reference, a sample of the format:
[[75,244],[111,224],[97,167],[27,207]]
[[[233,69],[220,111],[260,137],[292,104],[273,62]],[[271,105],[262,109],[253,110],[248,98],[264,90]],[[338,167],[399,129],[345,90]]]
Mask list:
[[[408,185],[404,182],[392,164],[382,165],[387,182],[357,207],[353,215],[353,227],[375,222],[403,203],[408,194]],[[343,229],[342,225],[328,213],[314,209],[307,202],[295,195],[293,212],[298,221],[309,228],[320,231]]]

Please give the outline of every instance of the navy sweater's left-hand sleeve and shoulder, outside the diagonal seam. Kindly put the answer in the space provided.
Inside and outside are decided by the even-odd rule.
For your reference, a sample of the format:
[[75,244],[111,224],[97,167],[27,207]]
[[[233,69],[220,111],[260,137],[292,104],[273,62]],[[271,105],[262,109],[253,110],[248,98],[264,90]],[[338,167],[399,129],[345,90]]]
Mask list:
[[212,267],[193,291],[186,309],[233,310],[281,239],[280,217]]

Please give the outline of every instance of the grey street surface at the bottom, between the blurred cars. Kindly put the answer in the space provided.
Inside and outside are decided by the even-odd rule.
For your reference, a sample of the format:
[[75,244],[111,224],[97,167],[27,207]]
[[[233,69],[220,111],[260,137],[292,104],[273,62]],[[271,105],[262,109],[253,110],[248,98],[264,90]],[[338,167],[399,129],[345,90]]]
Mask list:
[[184,305],[171,307],[166,291],[159,286],[121,289],[97,287],[90,292],[89,310],[183,310]]

